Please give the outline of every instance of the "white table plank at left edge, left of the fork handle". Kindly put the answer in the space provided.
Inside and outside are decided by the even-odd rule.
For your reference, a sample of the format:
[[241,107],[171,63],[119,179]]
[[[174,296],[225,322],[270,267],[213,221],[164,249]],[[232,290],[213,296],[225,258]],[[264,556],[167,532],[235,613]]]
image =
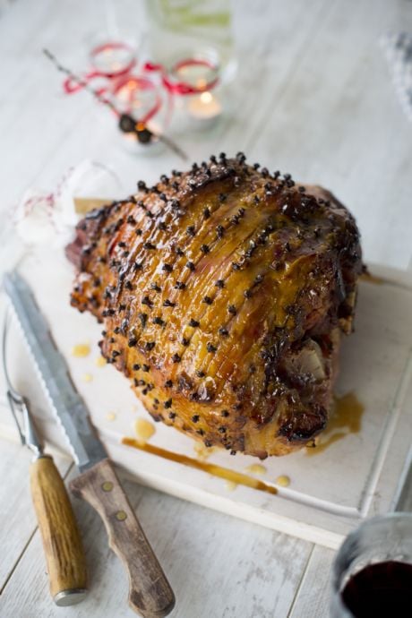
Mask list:
[[[3,387],[3,384],[2,384]],[[31,502],[29,468],[32,455],[13,442],[0,443],[0,594],[37,528]],[[71,461],[56,457],[60,474]],[[1,612],[0,612],[1,615]]]

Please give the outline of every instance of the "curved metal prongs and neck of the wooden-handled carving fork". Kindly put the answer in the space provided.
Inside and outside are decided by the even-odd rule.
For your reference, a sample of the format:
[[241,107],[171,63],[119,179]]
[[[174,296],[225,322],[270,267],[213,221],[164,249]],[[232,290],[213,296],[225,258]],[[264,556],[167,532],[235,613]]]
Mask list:
[[43,453],[43,447],[39,441],[38,433],[36,432],[30,415],[29,399],[21,395],[13,387],[10,375],[7,370],[7,335],[10,328],[11,320],[9,313],[5,313],[3,324],[3,340],[2,340],[2,364],[6,383],[6,396],[13,415],[14,422],[19,432],[21,444],[26,444],[31,451],[39,457]]

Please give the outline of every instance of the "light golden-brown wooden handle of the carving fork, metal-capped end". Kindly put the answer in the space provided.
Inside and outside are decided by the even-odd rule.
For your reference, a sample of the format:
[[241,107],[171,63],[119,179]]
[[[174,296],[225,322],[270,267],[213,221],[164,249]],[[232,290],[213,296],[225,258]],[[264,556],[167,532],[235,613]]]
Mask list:
[[41,455],[33,461],[30,486],[46,554],[50,593],[56,605],[74,605],[86,595],[86,562],[72,504],[50,456]]

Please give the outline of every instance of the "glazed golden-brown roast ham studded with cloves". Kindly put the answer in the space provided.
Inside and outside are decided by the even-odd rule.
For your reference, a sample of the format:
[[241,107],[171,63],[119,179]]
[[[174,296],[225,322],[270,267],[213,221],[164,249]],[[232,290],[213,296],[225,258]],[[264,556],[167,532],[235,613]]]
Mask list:
[[362,271],[330,193],[222,153],[91,211],[67,255],[72,305],[156,421],[261,459],[327,425]]

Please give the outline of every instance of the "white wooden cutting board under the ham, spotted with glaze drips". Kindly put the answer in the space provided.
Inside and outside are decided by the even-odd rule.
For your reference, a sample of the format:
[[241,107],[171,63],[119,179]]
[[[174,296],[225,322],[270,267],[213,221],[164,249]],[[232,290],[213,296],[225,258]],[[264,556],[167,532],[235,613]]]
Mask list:
[[[309,456],[304,450],[264,460],[266,473],[260,477],[264,483],[275,485],[280,475],[290,478],[288,487],[279,487],[279,493],[271,495],[243,485],[233,490],[224,479],[203,470],[121,444],[124,436],[135,437],[137,417],[151,419],[121,373],[111,365],[95,364],[101,325],[69,305],[72,266],[61,250],[54,250],[26,254],[20,271],[34,289],[107,451],[139,482],[332,548],[361,519],[396,506],[412,452],[412,286],[405,273],[373,268],[373,274],[390,280],[361,282],[356,332],[343,343],[336,391],[340,395],[354,391],[364,404],[361,430],[348,433],[319,454]],[[84,342],[90,343],[90,356],[72,356],[73,345]],[[40,432],[57,449],[69,453],[15,326],[9,349],[13,381],[29,396]],[[92,376],[90,382],[84,382],[85,374]],[[150,443],[196,458],[191,438],[159,423],[155,427]],[[3,393],[0,434],[16,436]],[[208,462],[253,476],[245,468],[259,460],[212,451]]]

